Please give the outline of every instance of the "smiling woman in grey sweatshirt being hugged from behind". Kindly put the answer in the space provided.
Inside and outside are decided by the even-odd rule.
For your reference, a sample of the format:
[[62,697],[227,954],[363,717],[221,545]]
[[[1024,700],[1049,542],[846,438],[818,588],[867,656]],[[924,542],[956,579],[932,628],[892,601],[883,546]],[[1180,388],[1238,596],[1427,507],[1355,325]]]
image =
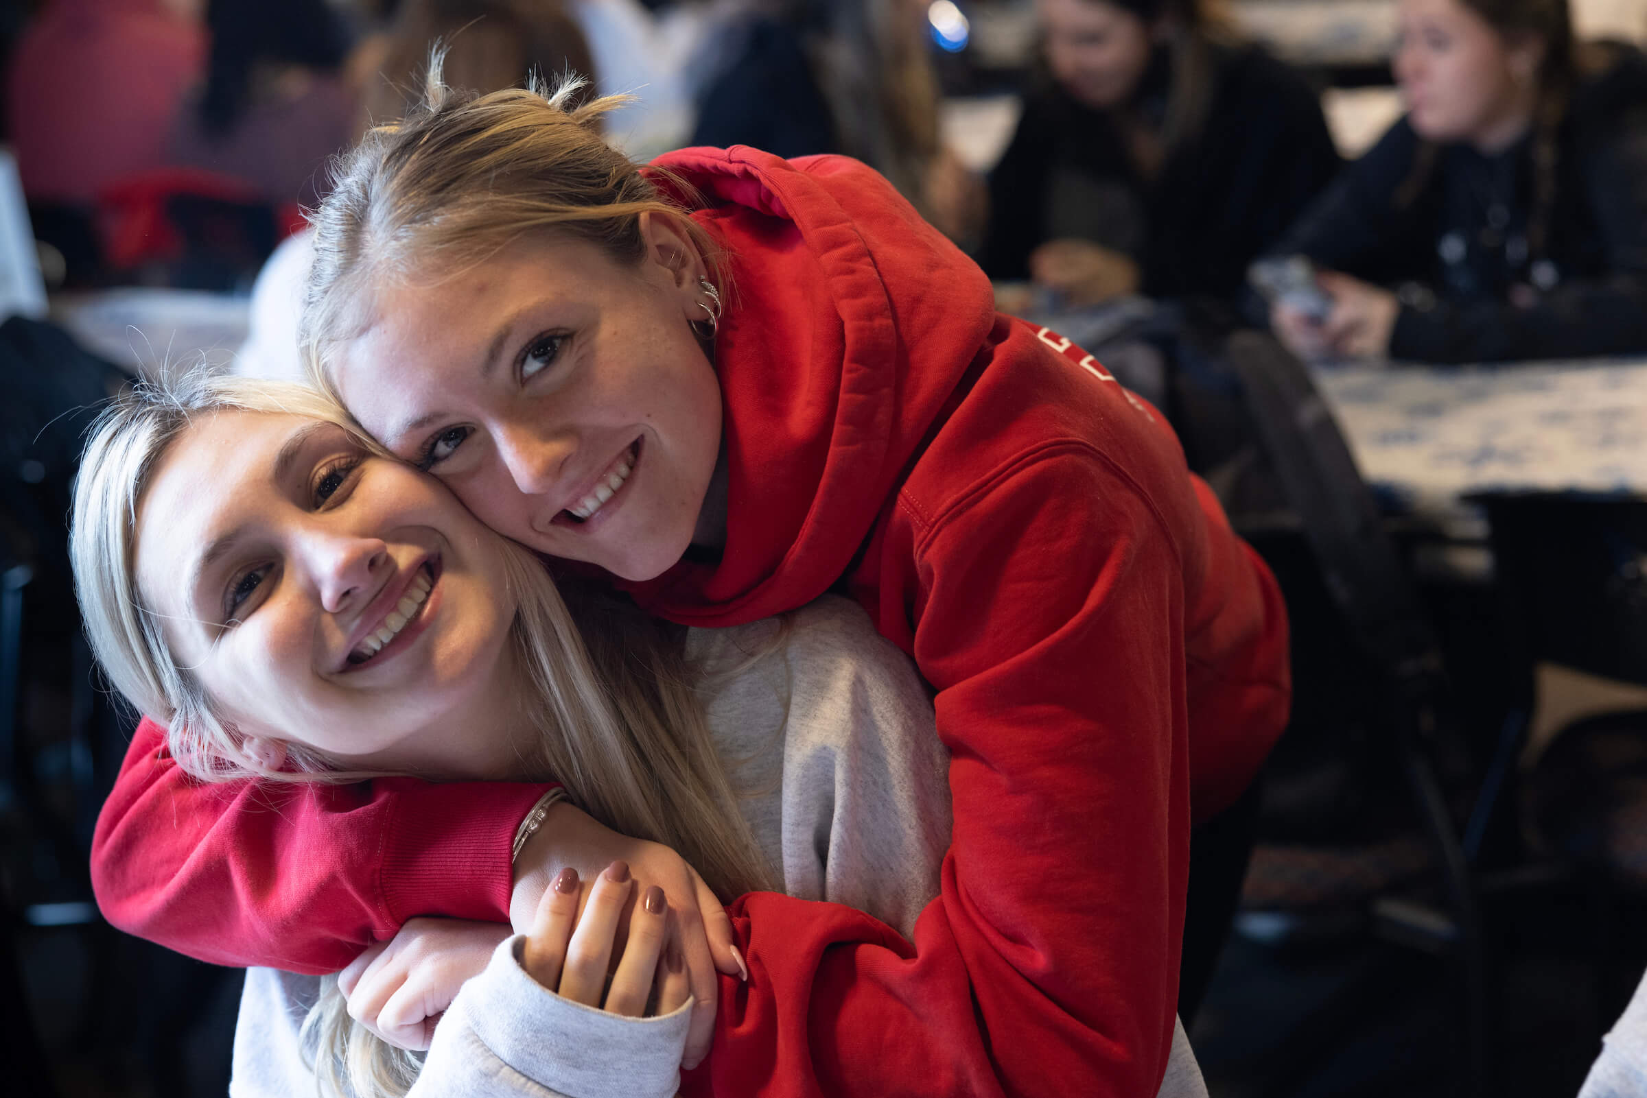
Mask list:
[[[198,780],[558,774],[723,896],[782,882],[909,935],[939,889],[944,752],[919,680],[861,612],[833,599],[784,626],[680,630],[578,584],[563,601],[527,550],[313,390],[194,375],[117,402],[86,454],[72,555],[102,667]],[[690,989],[662,889],[616,863],[581,917],[578,894],[562,871],[534,937],[504,948],[502,927],[413,920],[341,994],[250,973],[232,1093],[295,1093],[313,1070],[356,1098],[499,1093],[506,1063],[504,1080],[535,1065],[509,1093],[674,1093]],[[438,1037],[427,1065],[371,1035],[408,1011],[390,1032]],[[1166,1090],[1204,1093],[1176,1039]]]

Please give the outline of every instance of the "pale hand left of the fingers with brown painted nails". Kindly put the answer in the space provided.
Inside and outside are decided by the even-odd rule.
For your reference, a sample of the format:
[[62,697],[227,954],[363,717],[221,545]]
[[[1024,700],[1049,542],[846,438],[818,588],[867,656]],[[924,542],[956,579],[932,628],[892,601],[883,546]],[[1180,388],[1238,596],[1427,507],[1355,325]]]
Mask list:
[[389,942],[338,973],[349,1017],[399,1049],[422,1052],[466,979],[481,975],[509,927],[466,919],[408,919]]

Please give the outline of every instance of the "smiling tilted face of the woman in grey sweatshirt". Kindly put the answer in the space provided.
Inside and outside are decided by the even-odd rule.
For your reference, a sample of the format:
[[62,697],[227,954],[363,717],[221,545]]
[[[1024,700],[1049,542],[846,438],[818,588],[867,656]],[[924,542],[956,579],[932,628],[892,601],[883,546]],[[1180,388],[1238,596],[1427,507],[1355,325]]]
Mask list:
[[517,759],[502,540],[343,428],[198,418],[150,477],[135,553],[173,657],[244,736],[441,777]]

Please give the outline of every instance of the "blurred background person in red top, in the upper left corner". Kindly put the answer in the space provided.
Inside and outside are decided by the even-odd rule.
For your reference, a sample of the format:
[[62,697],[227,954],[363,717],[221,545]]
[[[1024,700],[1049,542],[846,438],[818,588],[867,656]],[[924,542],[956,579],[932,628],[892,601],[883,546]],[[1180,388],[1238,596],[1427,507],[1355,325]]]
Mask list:
[[168,163],[201,79],[201,0],[51,0],[12,58],[10,132],[31,202],[91,206],[104,184]]

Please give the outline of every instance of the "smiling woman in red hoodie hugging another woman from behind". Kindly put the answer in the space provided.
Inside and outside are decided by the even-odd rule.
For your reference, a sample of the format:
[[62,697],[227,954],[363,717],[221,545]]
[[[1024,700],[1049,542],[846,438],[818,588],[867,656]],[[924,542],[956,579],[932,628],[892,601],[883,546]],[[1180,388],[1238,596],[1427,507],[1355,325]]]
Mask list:
[[[873,171],[748,148],[637,171],[590,127],[603,104],[562,102],[436,94],[346,160],[306,316],[324,380],[489,525],[654,614],[850,593],[916,658],[952,754],[912,948],[740,897],[751,978],[687,1090],[1155,1093],[1191,823],[1286,716],[1271,578],[1159,415],[995,314]],[[338,968],[413,914],[504,919],[540,792],[400,782],[255,813],[140,737],[99,899],[196,955]]]

